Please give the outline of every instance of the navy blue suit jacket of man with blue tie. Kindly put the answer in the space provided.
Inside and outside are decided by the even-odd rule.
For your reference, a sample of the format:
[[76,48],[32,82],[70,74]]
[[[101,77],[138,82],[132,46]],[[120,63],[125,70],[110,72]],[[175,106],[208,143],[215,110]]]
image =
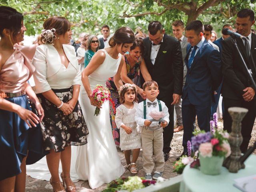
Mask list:
[[[188,44],[185,58],[187,68],[190,51],[191,45]],[[214,101],[213,91],[222,81],[221,66],[220,53],[205,40],[188,68],[182,99],[188,97],[193,105],[210,106]]]

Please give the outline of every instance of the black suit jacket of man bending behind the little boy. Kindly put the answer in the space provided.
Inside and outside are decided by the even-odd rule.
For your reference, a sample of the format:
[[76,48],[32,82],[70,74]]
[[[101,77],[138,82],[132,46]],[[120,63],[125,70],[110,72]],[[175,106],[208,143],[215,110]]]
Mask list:
[[152,42],[148,37],[143,42],[146,47],[144,60],[148,72],[159,86],[158,99],[172,103],[172,94],[182,93],[183,62],[180,42],[164,34],[154,65],[150,60]]

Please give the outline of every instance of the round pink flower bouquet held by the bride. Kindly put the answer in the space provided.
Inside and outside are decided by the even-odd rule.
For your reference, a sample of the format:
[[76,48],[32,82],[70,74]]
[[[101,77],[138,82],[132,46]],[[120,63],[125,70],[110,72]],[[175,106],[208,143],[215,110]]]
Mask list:
[[[105,101],[109,100],[110,92],[108,88],[103,87],[102,85],[96,85],[92,91],[92,98],[96,100],[99,104],[103,104]],[[94,115],[98,116],[100,114],[100,108],[96,107]]]

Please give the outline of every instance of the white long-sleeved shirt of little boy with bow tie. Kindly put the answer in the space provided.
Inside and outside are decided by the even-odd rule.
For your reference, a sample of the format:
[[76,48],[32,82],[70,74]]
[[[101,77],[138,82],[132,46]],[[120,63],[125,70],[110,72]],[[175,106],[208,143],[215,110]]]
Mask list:
[[[144,126],[144,122],[145,120],[150,120],[152,119],[152,117],[149,115],[150,112],[152,111],[160,111],[159,110],[159,105],[157,102],[157,99],[155,99],[153,102],[157,102],[156,106],[150,106],[148,107],[147,102],[151,102],[150,100],[146,99],[146,119],[144,119],[144,102],[140,102],[136,108],[136,113],[135,113],[135,121],[138,125],[140,126]],[[161,106],[162,106],[162,112],[164,113],[164,117],[163,120],[165,120],[167,122],[167,124],[169,124],[170,119],[169,119],[169,112],[168,112],[168,108],[166,107],[165,103],[161,102]],[[158,122],[152,122],[150,124],[150,127],[152,126],[157,126]]]

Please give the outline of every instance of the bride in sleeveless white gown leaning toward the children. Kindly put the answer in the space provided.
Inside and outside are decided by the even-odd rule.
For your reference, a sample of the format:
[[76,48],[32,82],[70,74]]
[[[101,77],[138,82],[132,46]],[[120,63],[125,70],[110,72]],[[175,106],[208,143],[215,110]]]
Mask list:
[[[92,189],[119,178],[125,170],[112,135],[109,101],[100,106],[90,95],[97,84],[106,86],[106,80],[112,76],[116,87],[122,86],[121,54],[130,51],[133,42],[134,32],[128,27],[119,28],[109,41],[110,47],[96,52],[82,72],[85,91],[80,94],[80,100],[89,134],[88,143],[77,148],[75,167],[79,179],[88,180]],[[96,106],[101,107],[99,116],[94,116]]]

